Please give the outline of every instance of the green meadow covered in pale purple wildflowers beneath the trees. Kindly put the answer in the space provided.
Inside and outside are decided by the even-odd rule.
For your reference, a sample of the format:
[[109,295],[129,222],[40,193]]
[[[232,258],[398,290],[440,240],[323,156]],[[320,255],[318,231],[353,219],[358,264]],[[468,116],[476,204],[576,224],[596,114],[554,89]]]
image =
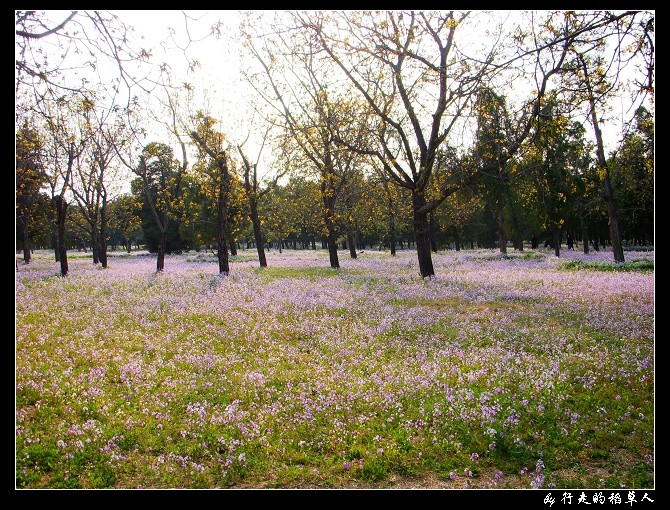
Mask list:
[[17,488],[654,488],[653,252],[250,253],[19,264]]

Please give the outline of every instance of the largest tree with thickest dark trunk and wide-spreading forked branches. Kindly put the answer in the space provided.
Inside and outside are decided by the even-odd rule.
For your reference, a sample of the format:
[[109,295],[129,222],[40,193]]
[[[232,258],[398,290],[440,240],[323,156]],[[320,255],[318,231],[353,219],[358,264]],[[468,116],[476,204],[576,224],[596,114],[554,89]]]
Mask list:
[[[537,89],[528,101],[525,115],[517,121],[514,136],[494,167],[473,168],[459,158],[457,168],[442,169],[452,179],[437,197],[427,196],[440,146],[456,134],[474,99],[494,72],[509,63],[494,65],[496,48],[481,58],[459,52],[457,29],[466,25],[470,13],[397,12],[297,13],[297,23],[309,30],[375,112],[376,147],[365,151],[379,160],[392,182],[411,192],[414,233],[419,272],[435,274],[430,244],[429,214],[479,174],[511,159],[528,135],[549,79],[560,70],[568,42],[567,30],[536,36],[534,54],[550,55],[536,65]],[[542,37],[542,38],[541,38]],[[540,51],[540,50],[543,51]],[[533,54],[526,52],[526,55]],[[511,61],[520,58],[514,57]]]

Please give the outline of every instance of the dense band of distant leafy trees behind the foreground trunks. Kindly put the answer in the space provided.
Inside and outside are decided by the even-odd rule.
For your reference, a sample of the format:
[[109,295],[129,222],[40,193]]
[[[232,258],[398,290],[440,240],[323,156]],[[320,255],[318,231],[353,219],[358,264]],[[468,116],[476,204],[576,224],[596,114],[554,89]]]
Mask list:
[[[592,144],[584,138],[584,127],[563,116],[543,125],[524,156],[508,163],[505,178],[484,176],[477,183],[456,191],[429,217],[431,249],[507,247],[560,247],[571,234],[584,251],[611,246],[608,215],[600,196]],[[50,197],[41,192],[39,151],[31,150],[34,133],[17,135],[17,249],[54,248],[55,212]],[[608,160],[612,172],[614,200],[620,213],[625,245],[654,243],[654,124],[644,108],[638,110],[635,128],[621,148]],[[32,143],[35,143],[34,141]],[[484,142],[482,142],[484,143]],[[161,178],[174,179],[179,165],[171,150],[160,143],[148,151],[162,151],[150,171],[149,187],[158,193]],[[438,161],[446,158],[441,155]],[[440,164],[440,163],[438,163]],[[194,165],[197,167],[201,163]],[[249,215],[241,165],[231,165],[231,192],[227,218],[227,250],[250,250],[257,246]],[[170,175],[170,172],[174,175]],[[413,247],[409,192],[386,182],[363,168],[352,171],[333,211],[334,233],[339,249],[396,249]],[[151,212],[141,177],[131,183],[131,192],[121,194],[107,206],[107,245],[131,251],[140,246],[157,253],[161,231]],[[182,178],[180,190],[170,192],[175,202],[173,220],[165,232],[166,253],[184,250],[217,250],[216,203],[197,170]],[[321,212],[320,183],[299,173],[276,183],[258,204],[262,240],[268,248],[327,249]],[[90,251],[94,245],[80,208],[74,208],[66,223],[65,243],[70,250]],[[27,226],[27,228],[26,228]],[[501,245],[502,239],[502,245]],[[556,245],[558,243],[558,246]],[[353,246],[352,246],[353,245]],[[534,245],[534,246],[533,246]]]

